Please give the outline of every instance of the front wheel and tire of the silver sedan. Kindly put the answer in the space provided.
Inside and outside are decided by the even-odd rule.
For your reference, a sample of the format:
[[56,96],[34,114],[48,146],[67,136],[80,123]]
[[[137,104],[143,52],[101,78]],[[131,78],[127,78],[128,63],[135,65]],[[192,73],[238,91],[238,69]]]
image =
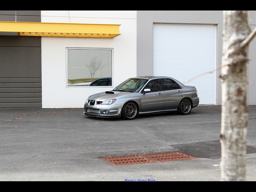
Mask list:
[[135,102],[129,101],[122,108],[121,117],[125,120],[133,120],[138,115],[138,106]]

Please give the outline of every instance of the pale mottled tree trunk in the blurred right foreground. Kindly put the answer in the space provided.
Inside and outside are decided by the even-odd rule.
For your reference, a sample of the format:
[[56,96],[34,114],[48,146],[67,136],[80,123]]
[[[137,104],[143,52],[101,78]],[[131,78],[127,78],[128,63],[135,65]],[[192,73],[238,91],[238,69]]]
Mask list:
[[250,34],[247,11],[223,11],[221,180],[246,180],[247,54]]

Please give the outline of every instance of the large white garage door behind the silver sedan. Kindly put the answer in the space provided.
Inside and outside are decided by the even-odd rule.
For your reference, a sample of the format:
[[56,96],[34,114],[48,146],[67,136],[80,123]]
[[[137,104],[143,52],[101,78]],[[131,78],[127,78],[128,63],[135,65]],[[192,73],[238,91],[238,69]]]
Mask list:
[[215,104],[216,26],[197,24],[154,24],[153,73],[170,76],[196,86],[199,104]]

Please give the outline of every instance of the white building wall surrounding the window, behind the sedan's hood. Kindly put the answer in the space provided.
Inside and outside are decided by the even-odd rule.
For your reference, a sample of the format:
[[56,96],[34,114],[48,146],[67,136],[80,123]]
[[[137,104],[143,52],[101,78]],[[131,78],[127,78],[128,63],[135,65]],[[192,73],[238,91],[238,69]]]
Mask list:
[[116,38],[42,37],[42,108],[83,108],[112,88],[67,87],[66,48],[113,48],[113,88],[136,76],[136,11],[41,11],[41,22],[121,24]]

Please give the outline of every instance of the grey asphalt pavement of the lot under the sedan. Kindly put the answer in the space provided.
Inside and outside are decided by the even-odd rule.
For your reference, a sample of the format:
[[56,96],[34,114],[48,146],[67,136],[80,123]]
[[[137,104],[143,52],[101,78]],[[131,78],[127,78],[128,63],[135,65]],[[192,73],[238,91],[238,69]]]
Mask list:
[[[249,106],[246,180],[256,181],[256,106]],[[0,109],[0,181],[220,181],[221,106],[134,120],[83,108]],[[112,164],[102,158],[182,152],[189,160]]]

